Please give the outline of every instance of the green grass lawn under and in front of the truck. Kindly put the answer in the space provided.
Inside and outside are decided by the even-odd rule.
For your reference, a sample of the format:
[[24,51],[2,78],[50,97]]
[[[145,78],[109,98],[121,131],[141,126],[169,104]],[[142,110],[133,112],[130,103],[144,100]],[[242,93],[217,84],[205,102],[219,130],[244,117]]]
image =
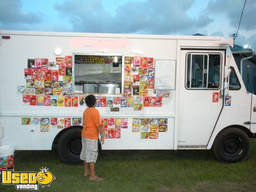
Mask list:
[[[52,151],[15,151],[15,171],[36,171],[47,166],[56,180],[39,191],[256,191],[256,140],[241,163],[218,162],[208,150],[101,151],[96,174],[104,182],[83,177],[83,166],[61,162]],[[15,186],[0,185],[0,191]]]

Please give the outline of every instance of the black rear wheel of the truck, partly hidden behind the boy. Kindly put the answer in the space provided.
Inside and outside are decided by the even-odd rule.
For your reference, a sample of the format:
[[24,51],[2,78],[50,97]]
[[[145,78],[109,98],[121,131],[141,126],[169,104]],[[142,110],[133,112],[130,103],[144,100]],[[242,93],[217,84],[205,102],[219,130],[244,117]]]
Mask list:
[[81,148],[81,128],[69,128],[58,140],[58,154],[68,165],[83,163],[80,160]]

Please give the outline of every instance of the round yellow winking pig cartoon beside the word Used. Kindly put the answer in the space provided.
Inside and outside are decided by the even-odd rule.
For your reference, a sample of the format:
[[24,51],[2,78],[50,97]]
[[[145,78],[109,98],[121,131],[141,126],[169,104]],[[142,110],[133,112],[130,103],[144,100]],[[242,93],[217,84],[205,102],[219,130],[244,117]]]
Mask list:
[[36,175],[36,180],[38,181],[39,184],[42,185],[42,187],[44,186],[50,186],[50,184],[52,183],[52,181],[55,178],[54,175],[52,175],[51,172],[48,171],[48,169],[45,167],[43,167],[43,169],[40,169],[41,171],[37,173]]

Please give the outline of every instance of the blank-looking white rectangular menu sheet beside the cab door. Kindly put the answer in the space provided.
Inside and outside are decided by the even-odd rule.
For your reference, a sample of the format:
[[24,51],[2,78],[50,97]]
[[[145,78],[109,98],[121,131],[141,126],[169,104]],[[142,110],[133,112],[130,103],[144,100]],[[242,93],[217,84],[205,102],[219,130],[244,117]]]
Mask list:
[[155,60],[155,89],[175,89],[175,60]]

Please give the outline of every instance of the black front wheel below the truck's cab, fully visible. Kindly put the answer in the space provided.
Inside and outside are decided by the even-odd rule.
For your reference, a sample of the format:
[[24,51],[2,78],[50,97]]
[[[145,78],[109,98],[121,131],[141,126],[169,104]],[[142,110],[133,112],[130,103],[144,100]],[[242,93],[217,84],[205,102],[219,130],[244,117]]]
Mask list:
[[236,163],[245,160],[250,152],[250,140],[239,128],[221,131],[213,143],[215,157],[223,163]]

